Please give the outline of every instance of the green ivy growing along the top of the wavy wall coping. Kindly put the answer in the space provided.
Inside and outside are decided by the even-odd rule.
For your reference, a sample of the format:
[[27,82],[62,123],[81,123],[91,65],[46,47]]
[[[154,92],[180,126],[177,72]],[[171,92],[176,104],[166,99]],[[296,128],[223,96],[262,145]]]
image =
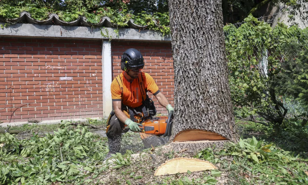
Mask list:
[[[36,20],[46,20],[51,13],[55,13],[59,18],[66,22],[71,22],[84,16],[88,23],[97,24],[100,22],[102,17],[109,17],[110,22],[117,25],[117,27],[128,26],[128,21],[132,19],[135,24],[145,26],[146,29],[160,31],[163,35],[170,33],[169,27],[169,14],[168,13],[154,13],[146,14],[141,12],[134,14],[132,11],[125,9],[114,10],[111,7],[100,7],[97,10],[90,11],[86,7],[79,9],[68,9],[66,11],[58,11],[49,9],[47,7],[37,8],[33,4],[26,4],[26,6],[0,6],[0,17],[5,19],[18,18],[22,11],[27,11],[31,14],[31,17]],[[155,25],[155,22],[158,27]]]

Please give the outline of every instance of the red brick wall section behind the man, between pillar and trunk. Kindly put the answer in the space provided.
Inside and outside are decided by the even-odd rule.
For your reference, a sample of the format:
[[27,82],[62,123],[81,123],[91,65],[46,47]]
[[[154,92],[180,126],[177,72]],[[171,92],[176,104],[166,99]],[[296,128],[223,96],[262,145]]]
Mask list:
[[[140,50],[145,63],[142,71],[147,72],[153,77],[160,91],[167,97],[170,104],[173,106],[174,69],[171,43],[112,42],[113,79],[122,72],[120,67],[121,55],[128,48]],[[158,113],[167,113],[167,110],[162,108],[151,92],[148,92],[148,95],[155,102]]]

